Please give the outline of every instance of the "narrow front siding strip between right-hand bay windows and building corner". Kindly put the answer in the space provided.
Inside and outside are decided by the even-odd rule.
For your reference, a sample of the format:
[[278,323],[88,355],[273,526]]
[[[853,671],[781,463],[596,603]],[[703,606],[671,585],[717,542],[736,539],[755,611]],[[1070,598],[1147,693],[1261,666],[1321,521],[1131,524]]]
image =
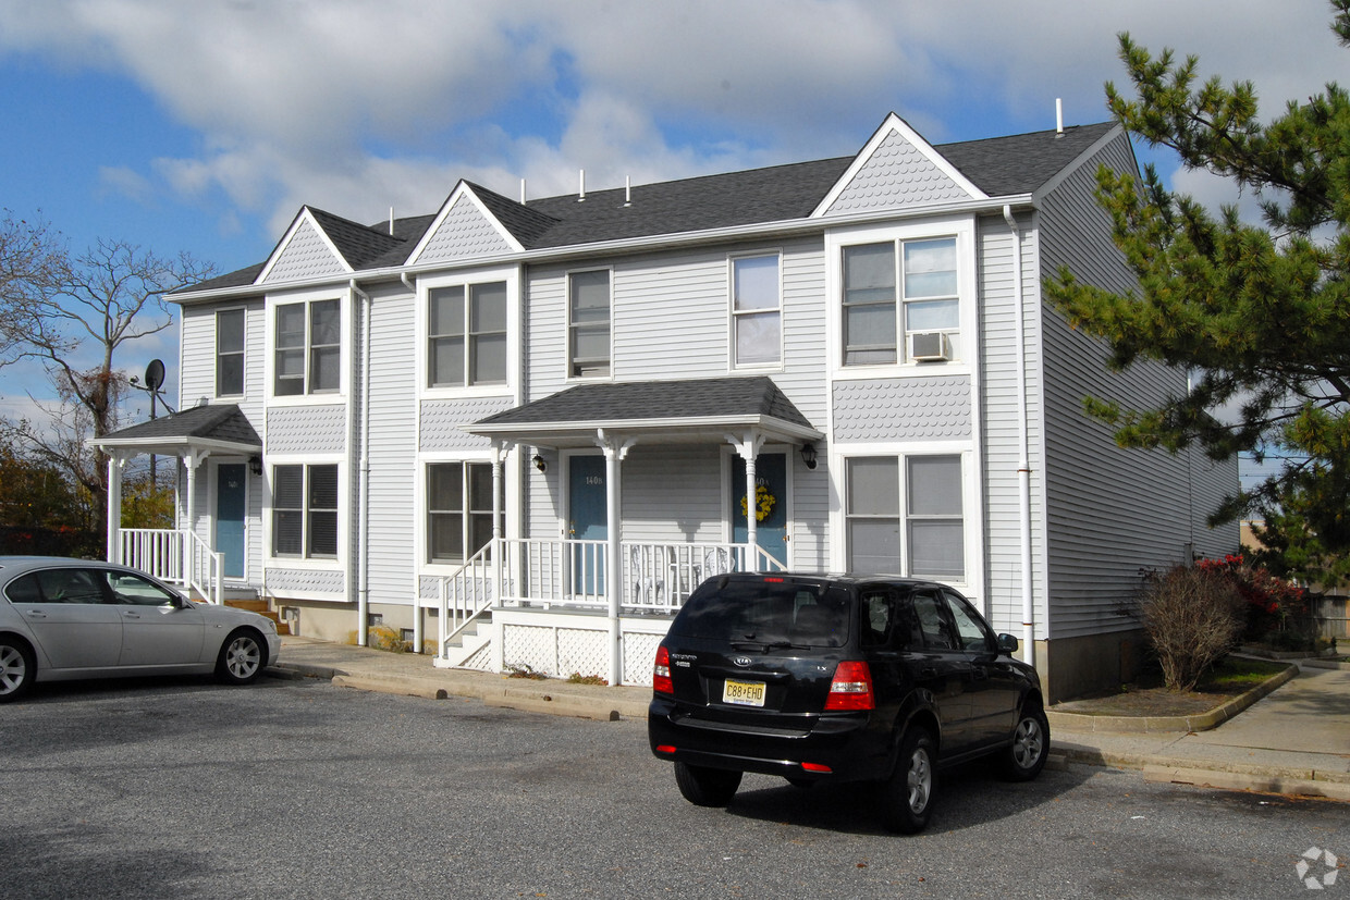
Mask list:
[[[987,609],[996,630],[1021,636],[1022,536],[1018,433],[1018,321],[1014,293],[1013,232],[1002,216],[976,223],[980,281],[980,390],[981,466],[984,470],[984,567]],[[1022,232],[1023,341],[1027,383],[1027,444],[1035,453],[1042,443],[1040,401],[1040,352],[1035,321],[1035,233],[1030,216],[1018,219]],[[1031,459],[1031,497],[1045,490],[1045,467]],[[1031,505],[1031,595],[1035,602],[1037,636],[1045,636],[1044,505]]]

